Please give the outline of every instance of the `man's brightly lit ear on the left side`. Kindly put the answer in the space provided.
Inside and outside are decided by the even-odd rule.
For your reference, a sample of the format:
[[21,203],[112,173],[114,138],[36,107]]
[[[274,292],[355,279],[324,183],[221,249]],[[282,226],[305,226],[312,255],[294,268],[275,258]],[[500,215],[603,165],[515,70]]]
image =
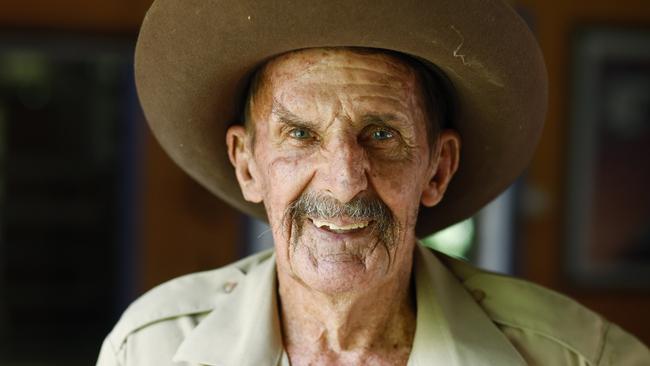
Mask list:
[[234,125],[226,131],[226,144],[228,145],[228,158],[235,168],[235,175],[239,182],[244,199],[249,202],[262,202],[262,190],[258,179],[255,159],[250,146],[250,135],[246,128]]

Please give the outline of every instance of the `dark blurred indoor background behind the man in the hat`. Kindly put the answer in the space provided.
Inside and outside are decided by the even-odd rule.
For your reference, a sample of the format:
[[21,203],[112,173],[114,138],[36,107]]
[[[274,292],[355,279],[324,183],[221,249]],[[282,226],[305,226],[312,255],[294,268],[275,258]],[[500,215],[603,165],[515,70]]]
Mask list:
[[[92,365],[138,295],[268,247],[161,151],[133,85],[151,0],[0,0],[0,365]],[[650,343],[650,3],[519,0],[550,78],[526,173],[424,238]]]

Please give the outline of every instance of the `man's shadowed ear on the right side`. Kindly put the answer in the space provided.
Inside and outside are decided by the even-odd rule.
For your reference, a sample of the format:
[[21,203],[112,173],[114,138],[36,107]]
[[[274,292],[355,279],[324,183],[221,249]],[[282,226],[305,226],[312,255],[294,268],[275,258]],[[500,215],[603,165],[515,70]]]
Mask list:
[[460,160],[460,136],[454,130],[443,130],[431,152],[430,178],[422,191],[422,204],[437,205],[458,170]]

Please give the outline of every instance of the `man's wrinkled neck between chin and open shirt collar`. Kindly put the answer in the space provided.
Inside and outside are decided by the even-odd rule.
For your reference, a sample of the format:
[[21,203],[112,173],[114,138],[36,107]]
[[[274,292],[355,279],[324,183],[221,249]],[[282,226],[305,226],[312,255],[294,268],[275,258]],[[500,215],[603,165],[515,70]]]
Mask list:
[[376,288],[336,295],[278,273],[283,340],[291,363],[406,364],[415,335],[410,268]]

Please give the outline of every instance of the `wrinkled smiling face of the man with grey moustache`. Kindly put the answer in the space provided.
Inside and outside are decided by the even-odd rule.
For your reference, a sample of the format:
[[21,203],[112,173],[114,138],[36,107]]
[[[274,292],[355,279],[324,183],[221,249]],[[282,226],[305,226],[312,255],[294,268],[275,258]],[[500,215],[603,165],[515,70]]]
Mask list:
[[310,49],[271,61],[238,177],[247,199],[264,202],[279,273],[341,293],[410,269],[437,161],[418,88],[384,54]]

